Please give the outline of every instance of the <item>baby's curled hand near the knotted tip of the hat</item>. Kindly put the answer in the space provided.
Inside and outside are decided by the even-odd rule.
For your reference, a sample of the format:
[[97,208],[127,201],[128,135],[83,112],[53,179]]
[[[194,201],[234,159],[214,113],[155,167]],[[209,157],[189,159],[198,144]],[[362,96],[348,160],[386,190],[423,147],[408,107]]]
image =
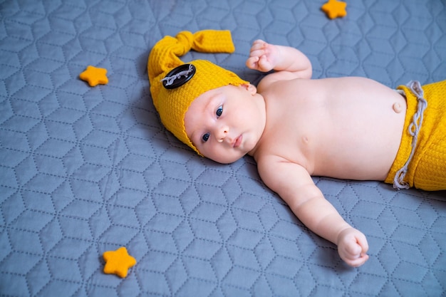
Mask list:
[[252,43],[247,67],[263,72],[271,71],[277,65],[277,58],[279,49],[259,39]]

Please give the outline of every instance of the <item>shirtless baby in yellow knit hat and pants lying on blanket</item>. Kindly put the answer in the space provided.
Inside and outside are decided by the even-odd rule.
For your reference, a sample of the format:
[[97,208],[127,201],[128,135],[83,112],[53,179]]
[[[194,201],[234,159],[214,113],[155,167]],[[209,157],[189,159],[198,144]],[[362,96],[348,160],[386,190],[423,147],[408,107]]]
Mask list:
[[[368,78],[311,80],[301,51],[254,41],[247,66],[268,72],[255,87],[209,61],[182,63],[190,49],[234,51],[229,31],[166,36],[147,64],[162,123],[199,155],[256,160],[264,183],[351,266],[368,243],[323,197],[311,175],[446,189],[446,80],[392,90]],[[173,68],[173,70],[172,70]],[[432,174],[433,172],[433,174]]]

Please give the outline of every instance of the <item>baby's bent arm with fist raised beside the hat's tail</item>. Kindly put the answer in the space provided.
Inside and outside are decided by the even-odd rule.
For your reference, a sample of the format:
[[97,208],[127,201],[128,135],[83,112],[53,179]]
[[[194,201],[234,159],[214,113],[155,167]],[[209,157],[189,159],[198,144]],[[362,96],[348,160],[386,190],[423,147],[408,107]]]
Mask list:
[[262,72],[274,70],[274,75],[284,76],[276,79],[311,78],[312,72],[311,62],[298,49],[277,46],[262,40],[252,43],[247,67]]

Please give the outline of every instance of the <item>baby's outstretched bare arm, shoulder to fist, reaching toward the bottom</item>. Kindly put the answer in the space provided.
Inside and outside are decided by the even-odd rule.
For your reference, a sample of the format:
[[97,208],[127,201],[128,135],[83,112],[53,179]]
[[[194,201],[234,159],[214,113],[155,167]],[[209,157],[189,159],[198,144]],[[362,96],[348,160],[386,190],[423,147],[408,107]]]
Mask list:
[[336,244],[343,261],[357,267],[368,260],[364,234],[350,226],[323,197],[304,167],[271,160],[259,160],[257,165],[265,184],[284,199],[311,231]]

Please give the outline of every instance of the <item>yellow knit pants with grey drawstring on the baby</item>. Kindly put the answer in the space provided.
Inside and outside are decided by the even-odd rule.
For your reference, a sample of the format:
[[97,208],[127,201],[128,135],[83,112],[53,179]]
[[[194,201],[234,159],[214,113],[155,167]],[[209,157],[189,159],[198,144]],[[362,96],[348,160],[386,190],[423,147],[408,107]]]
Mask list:
[[[414,148],[413,140],[417,136],[413,133],[415,127],[411,123],[414,123],[414,115],[420,111],[420,103],[408,86],[400,85],[398,89],[405,92],[408,110],[398,155],[385,182],[397,188],[407,186],[427,191],[446,189],[446,80],[422,86],[427,107],[421,120],[418,120],[421,127]],[[408,162],[412,150],[412,159]],[[395,175],[398,177],[401,171],[404,176],[403,187],[395,183]]]

